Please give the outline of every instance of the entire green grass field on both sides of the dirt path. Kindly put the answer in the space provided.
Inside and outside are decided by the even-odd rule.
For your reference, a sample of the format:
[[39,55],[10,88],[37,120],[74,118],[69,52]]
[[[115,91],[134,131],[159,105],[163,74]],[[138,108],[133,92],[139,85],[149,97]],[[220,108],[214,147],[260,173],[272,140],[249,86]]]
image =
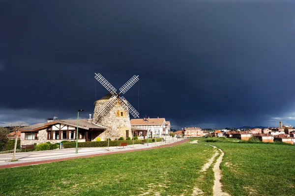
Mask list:
[[295,195],[295,146],[198,140],[199,144],[0,169],[0,195],[191,196],[198,188],[203,196],[211,196],[213,165],[200,170],[216,149],[204,144],[225,152],[221,164],[224,192]]

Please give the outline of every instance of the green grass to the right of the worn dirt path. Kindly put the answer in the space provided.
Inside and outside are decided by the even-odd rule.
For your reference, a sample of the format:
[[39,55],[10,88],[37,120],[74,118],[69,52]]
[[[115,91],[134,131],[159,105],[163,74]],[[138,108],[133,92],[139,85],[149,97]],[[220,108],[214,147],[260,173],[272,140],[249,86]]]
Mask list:
[[[202,143],[205,139],[201,139]],[[210,142],[225,155],[223,190],[232,196],[295,196],[295,146]]]

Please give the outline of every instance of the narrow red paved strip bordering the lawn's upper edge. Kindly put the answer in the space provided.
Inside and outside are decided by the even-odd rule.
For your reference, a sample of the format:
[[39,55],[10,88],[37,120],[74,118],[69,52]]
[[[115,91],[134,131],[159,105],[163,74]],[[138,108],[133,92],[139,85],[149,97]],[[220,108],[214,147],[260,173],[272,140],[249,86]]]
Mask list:
[[124,150],[124,151],[116,151],[116,152],[106,152],[106,153],[99,153],[99,154],[90,154],[85,156],[77,156],[77,157],[68,157],[68,158],[61,158],[61,159],[50,159],[50,160],[44,160],[44,161],[31,161],[31,162],[25,162],[25,163],[15,163],[15,164],[9,164],[9,165],[1,165],[1,168],[12,168],[12,167],[19,167],[19,166],[26,166],[26,165],[36,165],[36,164],[42,164],[42,163],[52,163],[57,161],[66,161],[70,159],[78,159],[78,158],[89,158],[94,156],[103,156],[103,155],[109,155],[109,154],[118,154],[118,153],[125,153],[125,152],[134,152],[134,151],[141,151],[141,150],[149,150],[154,148],[161,148],[161,147],[173,147],[178,144],[182,144],[187,142],[189,139],[184,139],[179,142],[175,142],[172,144],[152,147],[152,148],[141,148],[141,149],[130,149],[130,150]]

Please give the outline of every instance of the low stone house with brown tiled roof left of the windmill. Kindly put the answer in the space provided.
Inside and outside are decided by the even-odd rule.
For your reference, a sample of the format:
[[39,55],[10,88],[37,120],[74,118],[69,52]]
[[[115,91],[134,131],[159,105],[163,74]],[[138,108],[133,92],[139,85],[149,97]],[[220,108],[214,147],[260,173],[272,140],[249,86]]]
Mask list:
[[[106,127],[92,123],[91,119],[79,119],[78,142],[95,141]],[[63,140],[76,141],[77,120],[58,120],[22,127],[21,145],[34,143],[60,143]]]

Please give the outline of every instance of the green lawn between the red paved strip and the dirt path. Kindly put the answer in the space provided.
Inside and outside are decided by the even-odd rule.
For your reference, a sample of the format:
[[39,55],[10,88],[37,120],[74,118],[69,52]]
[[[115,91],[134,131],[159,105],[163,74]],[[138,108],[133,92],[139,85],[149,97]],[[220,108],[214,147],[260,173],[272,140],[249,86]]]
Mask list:
[[214,173],[199,172],[215,152],[181,144],[49,164],[0,169],[4,196],[188,196],[194,188],[212,195]]

